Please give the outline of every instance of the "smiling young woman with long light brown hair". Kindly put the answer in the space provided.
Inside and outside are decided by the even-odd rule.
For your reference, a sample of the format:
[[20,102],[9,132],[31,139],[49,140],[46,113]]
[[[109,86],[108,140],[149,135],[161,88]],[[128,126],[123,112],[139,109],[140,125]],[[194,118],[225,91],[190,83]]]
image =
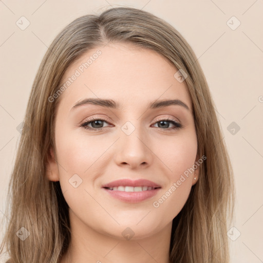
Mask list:
[[8,262],[229,262],[233,175],[214,107],[160,18],[112,8],[69,24],[28,102]]

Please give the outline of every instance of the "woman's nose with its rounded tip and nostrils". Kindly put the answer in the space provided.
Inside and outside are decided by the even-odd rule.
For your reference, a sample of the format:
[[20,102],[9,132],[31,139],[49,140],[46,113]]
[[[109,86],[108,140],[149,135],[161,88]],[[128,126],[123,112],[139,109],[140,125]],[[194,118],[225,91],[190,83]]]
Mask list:
[[121,130],[115,162],[117,165],[126,165],[132,169],[148,167],[153,161],[153,153],[149,144],[149,139],[141,129],[135,128],[130,135]]

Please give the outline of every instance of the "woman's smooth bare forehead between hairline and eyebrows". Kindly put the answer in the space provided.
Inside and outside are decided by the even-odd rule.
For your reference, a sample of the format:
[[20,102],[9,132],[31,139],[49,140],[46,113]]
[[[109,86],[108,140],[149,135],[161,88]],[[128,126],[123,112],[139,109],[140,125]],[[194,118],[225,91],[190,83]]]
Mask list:
[[157,99],[180,99],[192,111],[186,82],[174,77],[176,67],[161,54],[130,43],[109,43],[83,54],[66,70],[63,92],[71,104],[85,98],[117,101],[121,106],[145,105]]

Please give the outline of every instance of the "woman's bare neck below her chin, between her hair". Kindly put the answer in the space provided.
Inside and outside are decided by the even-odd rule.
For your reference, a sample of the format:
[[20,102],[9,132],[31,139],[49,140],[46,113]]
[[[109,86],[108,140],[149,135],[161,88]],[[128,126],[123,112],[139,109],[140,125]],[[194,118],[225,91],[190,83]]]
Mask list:
[[169,249],[172,222],[151,236],[123,240],[96,232],[77,219],[69,209],[71,240],[60,263],[69,262],[158,262],[170,263]]

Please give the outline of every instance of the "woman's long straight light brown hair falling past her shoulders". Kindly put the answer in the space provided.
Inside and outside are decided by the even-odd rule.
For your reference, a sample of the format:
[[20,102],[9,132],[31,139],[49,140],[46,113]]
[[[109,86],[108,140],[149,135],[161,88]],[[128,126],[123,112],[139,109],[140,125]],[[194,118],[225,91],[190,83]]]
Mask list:
[[[206,156],[206,160],[200,166],[199,180],[173,220],[170,260],[228,263],[233,172],[203,71],[192,48],[175,28],[151,13],[126,7],[77,18],[48,48],[26,109],[9,183],[9,221],[1,251],[6,245],[9,263],[54,263],[66,252],[71,236],[68,205],[60,183],[46,179],[45,164],[50,146],[55,149],[54,118],[60,101],[58,98],[50,102],[50,96],[59,90],[63,74],[74,61],[109,42],[129,42],[155,50],[187,73],[185,82],[193,104],[198,155]],[[18,235],[27,238],[23,241]]]

